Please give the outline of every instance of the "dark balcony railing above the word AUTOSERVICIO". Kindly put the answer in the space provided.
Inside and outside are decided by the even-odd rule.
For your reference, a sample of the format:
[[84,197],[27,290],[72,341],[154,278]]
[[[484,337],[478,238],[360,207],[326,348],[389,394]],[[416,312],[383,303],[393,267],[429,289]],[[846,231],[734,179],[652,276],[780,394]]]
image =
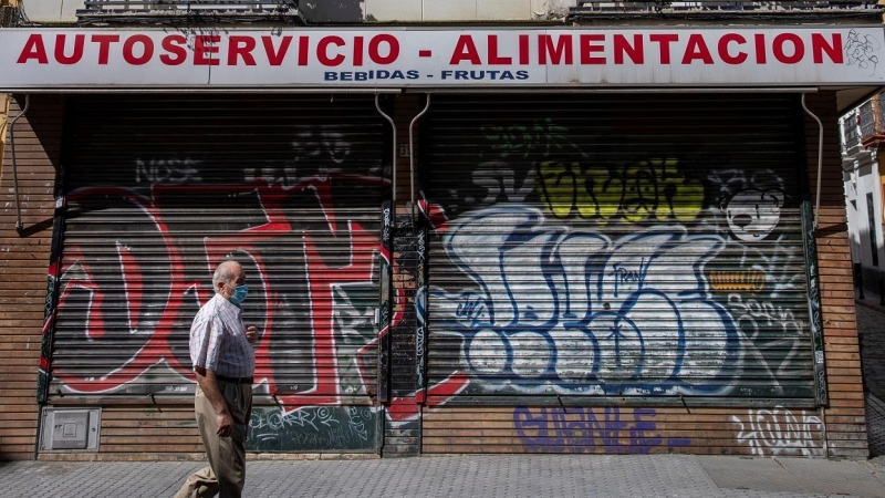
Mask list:
[[85,0],[81,24],[96,23],[303,23],[298,0]]

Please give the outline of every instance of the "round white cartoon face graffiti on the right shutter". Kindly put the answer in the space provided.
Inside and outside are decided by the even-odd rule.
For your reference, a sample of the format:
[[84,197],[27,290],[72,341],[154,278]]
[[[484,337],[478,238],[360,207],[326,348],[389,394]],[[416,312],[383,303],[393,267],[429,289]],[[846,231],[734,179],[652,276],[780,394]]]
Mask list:
[[779,190],[743,190],[722,206],[728,228],[740,240],[754,242],[764,239],[778,226],[783,206]]

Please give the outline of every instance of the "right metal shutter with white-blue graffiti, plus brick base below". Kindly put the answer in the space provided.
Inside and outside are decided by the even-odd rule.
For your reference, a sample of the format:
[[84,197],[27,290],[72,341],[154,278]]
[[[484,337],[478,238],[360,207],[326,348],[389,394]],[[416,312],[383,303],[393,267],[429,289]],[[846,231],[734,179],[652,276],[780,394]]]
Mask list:
[[425,124],[424,452],[719,452],[748,407],[814,406],[798,96],[438,96]]

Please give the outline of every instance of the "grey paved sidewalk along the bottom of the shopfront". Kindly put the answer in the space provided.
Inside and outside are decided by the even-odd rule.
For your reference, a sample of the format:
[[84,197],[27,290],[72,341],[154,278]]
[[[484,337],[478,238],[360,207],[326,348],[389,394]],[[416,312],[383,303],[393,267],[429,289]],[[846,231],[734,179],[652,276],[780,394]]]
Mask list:
[[[0,466],[0,495],[169,497],[199,463]],[[885,459],[834,461],[687,455],[452,455],[249,461],[247,497],[885,496]]]

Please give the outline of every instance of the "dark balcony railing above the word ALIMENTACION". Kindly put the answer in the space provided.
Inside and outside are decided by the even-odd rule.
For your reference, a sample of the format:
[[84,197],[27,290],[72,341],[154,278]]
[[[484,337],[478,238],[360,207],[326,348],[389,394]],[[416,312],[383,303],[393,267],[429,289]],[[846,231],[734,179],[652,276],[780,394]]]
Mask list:
[[633,1],[613,2],[602,0],[579,0],[570,18],[593,20],[612,17],[635,18],[642,15],[663,15],[691,19],[723,18],[784,18],[802,17],[810,19],[847,17],[852,19],[876,19],[885,6],[876,0],[812,0],[812,1],[749,1],[749,0],[706,0],[706,1]]

